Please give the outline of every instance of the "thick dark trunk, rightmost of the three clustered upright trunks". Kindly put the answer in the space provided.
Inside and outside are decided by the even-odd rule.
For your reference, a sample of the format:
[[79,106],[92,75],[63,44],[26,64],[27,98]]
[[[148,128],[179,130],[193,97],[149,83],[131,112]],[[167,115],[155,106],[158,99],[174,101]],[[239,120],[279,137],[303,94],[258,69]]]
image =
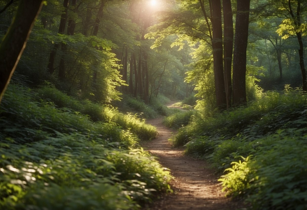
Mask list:
[[245,105],[246,100],[246,49],[248,39],[250,0],[237,1],[235,20],[235,47],[233,54],[233,104]]

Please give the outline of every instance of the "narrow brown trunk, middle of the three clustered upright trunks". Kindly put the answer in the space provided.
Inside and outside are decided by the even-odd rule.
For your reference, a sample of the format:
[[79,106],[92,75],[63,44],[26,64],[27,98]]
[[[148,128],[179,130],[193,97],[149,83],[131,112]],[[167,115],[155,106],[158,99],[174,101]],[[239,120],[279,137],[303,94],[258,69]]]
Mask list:
[[223,0],[223,19],[224,19],[224,81],[227,108],[231,107],[231,62],[233,49],[233,21],[231,1]]

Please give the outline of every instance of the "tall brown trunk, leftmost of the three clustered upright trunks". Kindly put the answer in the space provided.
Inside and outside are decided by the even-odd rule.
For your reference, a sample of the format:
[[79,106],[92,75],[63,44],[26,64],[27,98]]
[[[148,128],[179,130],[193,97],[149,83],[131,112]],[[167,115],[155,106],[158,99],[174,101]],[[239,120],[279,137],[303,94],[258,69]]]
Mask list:
[[212,51],[216,103],[219,109],[227,106],[223,72],[223,37],[221,2],[212,1]]

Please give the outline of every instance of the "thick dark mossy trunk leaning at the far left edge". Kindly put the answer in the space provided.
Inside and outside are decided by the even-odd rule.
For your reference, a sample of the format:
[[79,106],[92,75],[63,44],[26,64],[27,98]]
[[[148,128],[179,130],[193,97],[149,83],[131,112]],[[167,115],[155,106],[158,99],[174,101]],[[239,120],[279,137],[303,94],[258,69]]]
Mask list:
[[25,49],[42,1],[20,0],[14,20],[0,45],[0,102]]

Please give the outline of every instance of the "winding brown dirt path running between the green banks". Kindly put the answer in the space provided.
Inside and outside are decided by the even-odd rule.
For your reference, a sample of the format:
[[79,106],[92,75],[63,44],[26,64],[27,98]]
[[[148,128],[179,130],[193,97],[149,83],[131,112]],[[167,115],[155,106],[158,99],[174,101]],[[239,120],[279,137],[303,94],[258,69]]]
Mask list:
[[163,167],[169,168],[174,179],[171,189],[174,193],[162,196],[146,210],[235,210],[245,209],[242,203],[231,201],[221,192],[218,177],[203,160],[184,156],[184,149],[172,148],[168,139],[176,130],[166,128],[164,117],[147,120],[148,124],[157,127],[156,139],[144,142],[142,147],[159,158]]

